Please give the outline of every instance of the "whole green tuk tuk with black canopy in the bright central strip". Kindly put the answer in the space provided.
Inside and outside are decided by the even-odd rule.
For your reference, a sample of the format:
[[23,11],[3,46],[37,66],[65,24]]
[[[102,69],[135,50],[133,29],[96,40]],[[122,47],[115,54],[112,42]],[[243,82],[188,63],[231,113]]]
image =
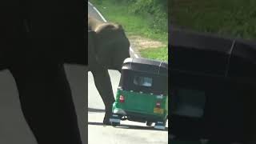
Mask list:
[[113,104],[112,126],[121,120],[155,123],[165,130],[168,115],[168,64],[145,58],[126,58],[122,65],[116,100]]

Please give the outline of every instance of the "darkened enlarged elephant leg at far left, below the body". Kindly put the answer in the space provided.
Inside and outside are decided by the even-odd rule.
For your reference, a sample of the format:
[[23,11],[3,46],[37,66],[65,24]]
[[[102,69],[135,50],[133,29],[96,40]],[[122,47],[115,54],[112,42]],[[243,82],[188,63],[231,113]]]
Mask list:
[[82,144],[63,66],[12,66],[22,112],[38,144]]

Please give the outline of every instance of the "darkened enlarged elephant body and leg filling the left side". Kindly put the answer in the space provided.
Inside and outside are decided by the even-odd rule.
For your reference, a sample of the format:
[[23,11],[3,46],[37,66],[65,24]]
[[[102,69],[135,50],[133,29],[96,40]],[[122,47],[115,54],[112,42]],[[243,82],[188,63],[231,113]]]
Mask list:
[[78,3],[10,0],[0,5],[0,70],[13,74],[22,112],[39,144],[82,144],[63,68],[66,59],[77,58],[66,57],[85,46],[84,14],[78,11],[84,7]]

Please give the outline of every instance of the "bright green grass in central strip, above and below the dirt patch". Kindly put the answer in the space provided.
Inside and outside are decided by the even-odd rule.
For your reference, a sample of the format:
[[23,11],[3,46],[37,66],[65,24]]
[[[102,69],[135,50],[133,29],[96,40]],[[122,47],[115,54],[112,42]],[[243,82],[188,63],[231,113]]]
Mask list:
[[[122,2],[114,3],[110,0],[104,0],[102,2],[98,2],[98,0],[90,0],[90,2],[92,2],[94,6],[97,7],[97,9],[103,14],[107,21],[121,24],[126,30],[126,34],[128,36],[140,35],[145,38],[157,40],[166,45],[166,47],[159,49],[159,52],[158,49],[141,50],[142,56],[144,58],[153,58],[165,61],[168,60],[168,32],[150,28],[150,17],[146,15],[143,16],[138,14],[131,14],[128,10],[128,6]],[[166,51],[166,53],[163,53],[164,51]],[[150,54],[153,52],[157,52],[157,54]]]

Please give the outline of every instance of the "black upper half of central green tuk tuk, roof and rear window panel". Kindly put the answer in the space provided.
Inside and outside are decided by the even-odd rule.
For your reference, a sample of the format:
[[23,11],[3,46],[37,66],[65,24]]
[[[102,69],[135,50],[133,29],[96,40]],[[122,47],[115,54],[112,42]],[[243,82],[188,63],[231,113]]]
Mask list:
[[[122,90],[168,95],[167,77],[168,64],[166,62],[145,58],[126,58],[122,65],[119,86],[122,87]],[[137,78],[142,78],[138,80],[139,84],[135,82]],[[150,86],[140,82],[148,82]]]

